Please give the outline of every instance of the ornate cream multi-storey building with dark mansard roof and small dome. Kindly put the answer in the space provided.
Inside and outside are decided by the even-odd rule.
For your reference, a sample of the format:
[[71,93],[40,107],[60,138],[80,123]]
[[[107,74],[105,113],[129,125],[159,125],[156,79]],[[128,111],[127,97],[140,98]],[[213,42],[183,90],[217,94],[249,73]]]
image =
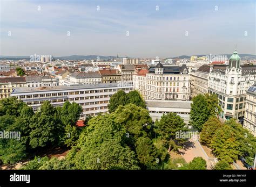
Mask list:
[[163,65],[159,61],[146,74],[146,100],[189,100],[190,75],[186,65]]

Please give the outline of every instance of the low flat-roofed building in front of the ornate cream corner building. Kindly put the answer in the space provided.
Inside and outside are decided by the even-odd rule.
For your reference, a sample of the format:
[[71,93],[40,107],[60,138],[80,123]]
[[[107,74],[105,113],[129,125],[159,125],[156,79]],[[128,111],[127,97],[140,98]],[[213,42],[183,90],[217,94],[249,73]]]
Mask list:
[[190,121],[191,103],[188,100],[146,100],[147,110],[153,120],[160,120],[163,114],[174,112],[184,119],[186,124]]

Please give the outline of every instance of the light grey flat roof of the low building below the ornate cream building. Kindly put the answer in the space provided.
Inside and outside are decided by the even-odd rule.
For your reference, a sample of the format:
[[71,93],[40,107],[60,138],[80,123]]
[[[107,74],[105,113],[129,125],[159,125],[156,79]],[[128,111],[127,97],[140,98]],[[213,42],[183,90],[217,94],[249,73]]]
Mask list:
[[191,101],[180,100],[146,100],[147,107],[159,107],[159,108],[181,108],[190,109]]

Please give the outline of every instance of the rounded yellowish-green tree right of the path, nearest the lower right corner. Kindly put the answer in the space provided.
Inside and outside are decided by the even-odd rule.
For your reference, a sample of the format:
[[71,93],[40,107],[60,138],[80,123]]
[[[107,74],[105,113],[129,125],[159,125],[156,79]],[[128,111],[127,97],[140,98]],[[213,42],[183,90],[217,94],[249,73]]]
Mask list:
[[214,134],[211,148],[219,160],[226,160],[228,163],[238,160],[242,155],[240,150],[239,137],[235,130],[229,125],[221,126]]

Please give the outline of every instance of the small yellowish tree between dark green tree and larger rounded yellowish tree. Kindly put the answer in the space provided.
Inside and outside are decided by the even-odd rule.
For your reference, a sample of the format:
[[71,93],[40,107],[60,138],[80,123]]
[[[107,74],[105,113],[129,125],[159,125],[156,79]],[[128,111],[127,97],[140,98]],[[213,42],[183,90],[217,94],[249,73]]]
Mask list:
[[200,142],[203,145],[210,146],[215,132],[221,127],[221,122],[217,117],[210,117],[203,125],[203,130],[200,133]]

